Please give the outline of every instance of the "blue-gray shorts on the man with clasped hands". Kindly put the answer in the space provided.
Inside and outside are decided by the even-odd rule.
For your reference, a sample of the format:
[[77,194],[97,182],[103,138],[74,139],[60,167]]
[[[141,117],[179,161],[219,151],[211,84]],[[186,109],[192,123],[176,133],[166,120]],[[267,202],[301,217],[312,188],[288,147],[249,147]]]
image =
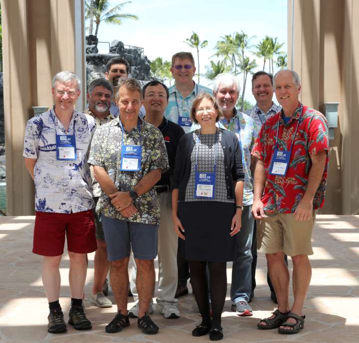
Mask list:
[[158,225],[131,223],[101,215],[109,261],[130,256],[153,260],[157,256]]

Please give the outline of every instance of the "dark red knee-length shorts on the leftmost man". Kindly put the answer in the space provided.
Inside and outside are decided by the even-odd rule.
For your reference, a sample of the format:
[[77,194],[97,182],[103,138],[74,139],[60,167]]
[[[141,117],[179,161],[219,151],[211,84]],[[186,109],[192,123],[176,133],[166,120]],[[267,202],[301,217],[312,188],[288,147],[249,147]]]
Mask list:
[[95,220],[92,210],[77,213],[36,212],[32,252],[42,256],[67,251],[85,254],[97,249]]

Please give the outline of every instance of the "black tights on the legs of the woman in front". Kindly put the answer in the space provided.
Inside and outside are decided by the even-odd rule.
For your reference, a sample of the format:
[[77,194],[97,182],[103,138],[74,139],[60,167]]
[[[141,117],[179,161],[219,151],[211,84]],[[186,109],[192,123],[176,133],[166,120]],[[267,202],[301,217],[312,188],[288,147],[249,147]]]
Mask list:
[[[208,282],[206,266],[209,269],[209,289],[212,304],[212,322],[209,314]],[[227,293],[226,262],[188,261],[194,298],[202,316],[202,324],[220,328],[221,315]]]

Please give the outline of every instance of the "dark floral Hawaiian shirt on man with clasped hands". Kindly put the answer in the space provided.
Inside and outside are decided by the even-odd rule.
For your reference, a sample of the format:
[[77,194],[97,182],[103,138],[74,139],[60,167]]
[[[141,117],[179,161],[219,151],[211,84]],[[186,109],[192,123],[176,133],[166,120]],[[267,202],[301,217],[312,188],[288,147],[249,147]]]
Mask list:
[[[140,128],[140,131],[139,131]],[[109,124],[99,127],[94,134],[88,163],[103,167],[121,191],[129,191],[151,170],[169,169],[165,142],[161,131],[139,118],[139,126],[130,132],[123,129],[124,145],[142,146],[141,170],[138,172],[120,171],[122,127],[119,117]],[[111,204],[111,199],[101,192],[96,211],[104,216],[134,223],[158,225],[160,221],[160,205],[154,188],[134,201],[138,212],[130,218],[123,217]]]

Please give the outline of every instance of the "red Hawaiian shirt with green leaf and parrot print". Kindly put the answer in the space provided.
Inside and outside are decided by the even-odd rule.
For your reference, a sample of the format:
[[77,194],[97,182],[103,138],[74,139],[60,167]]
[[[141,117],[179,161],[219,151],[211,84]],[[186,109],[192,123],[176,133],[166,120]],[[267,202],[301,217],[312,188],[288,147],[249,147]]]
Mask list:
[[[299,126],[292,144],[298,120]],[[292,145],[289,166],[285,176],[269,174],[276,140],[279,150],[289,150]],[[262,202],[265,211],[295,212],[307,190],[309,172],[312,166],[311,156],[323,150],[327,151],[327,159],[320,185],[313,200],[314,209],[323,207],[327,188],[329,159],[327,119],[320,112],[299,103],[293,117],[287,124],[283,120],[283,111],[266,120],[252,150],[252,155],[264,162],[266,183]]]

